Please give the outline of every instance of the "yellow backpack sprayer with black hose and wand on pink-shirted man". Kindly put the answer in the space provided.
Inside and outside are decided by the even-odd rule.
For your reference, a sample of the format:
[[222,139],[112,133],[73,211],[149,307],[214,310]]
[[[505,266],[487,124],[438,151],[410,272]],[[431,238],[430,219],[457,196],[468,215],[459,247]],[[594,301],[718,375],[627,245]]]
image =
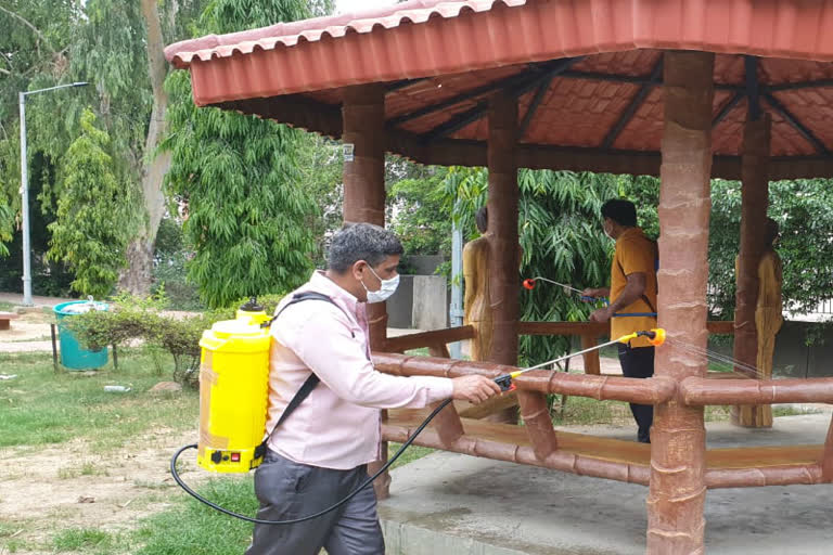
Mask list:
[[[274,340],[271,337],[269,327],[283,310],[291,305],[305,300],[333,302],[330,297],[322,294],[299,293],[285,304],[273,318],[269,318],[262,307],[258,306],[256,299],[253,298],[240,308],[235,320],[215,323],[210,330],[203,333],[203,337],[200,340],[200,346],[202,347],[200,360],[200,440],[198,443],[180,448],[174,454],[170,460],[170,474],[185,492],[200,502],[220,513],[249,522],[293,525],[311,520],[331,511],[335,511],[385,473],[401,456],[405,450],[410,447],[431,421],[452,401],[452,399],[447,399],[434,409],[414,430],[413,435],[402,443],[396,454],[373,476],[370,476],[355,491],[334,505],[316,514],[290,520],[265,520],[234,513],[196,493],[182,480],[177,470],[177,462],[184,451],[195,449],[197,451],[197,465],[209,472],[247,473],[257,468],[264,461],[267,441],[271,434],[278,426],[283,424],[297,405],[318,385],[318,376],[311,374],[290,401],[274,428],[267,433],[269,349],[270,341]],[[648,337],[652,345],[658,346],[665,341],[665,330],[656,328],[636,332],[589,349],[498,376],[495,378],[495,382],[500,386],[501,390],[510,391],[515,388],[512,380],[526,372],[601,349],[607,345],[616,343],[627,344],[637,337]]]

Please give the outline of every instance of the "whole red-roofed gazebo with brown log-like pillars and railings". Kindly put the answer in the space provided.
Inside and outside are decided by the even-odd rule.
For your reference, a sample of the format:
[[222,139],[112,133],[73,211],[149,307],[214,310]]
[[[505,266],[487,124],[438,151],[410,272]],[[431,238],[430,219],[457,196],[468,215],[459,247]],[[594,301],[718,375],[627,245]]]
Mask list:
[[[703,406],[833,402],[833,378],[709,379],[709,179],[743,182],[735,358],[754,365],[768,181],[833,176],[833,5],[808,0],[412,0],[207,36],[166,49],[194,101],[341,138],[344,219],[384,224],[384,156],[489,169],[494,340],[486,362],[448,359],[470,326],[388,339],[371,315],[374,363],[402,375],[497,376],[521,334],[605,333],[518,321],[518,167],[661,177],[659,325],[650,379],[529,373],[524,426],[449,406],[425,444],[649,486],[648,552],[701,553],[708,488],[833,481],[823,444],[706,450]],[[731,326],[731,323],[730,323]],[[713,332],[730,332],[712,325]],[[408,357],[428,346],[432,357]],[[589,362],[592,363],[592,360]],[[598,364],[594,366],[598,374]],[[555,433],[548,392],[655,405],[651,446]],[[390,411],[386,439],[421,415]],[[384,495],[384,483],[380,493]]]

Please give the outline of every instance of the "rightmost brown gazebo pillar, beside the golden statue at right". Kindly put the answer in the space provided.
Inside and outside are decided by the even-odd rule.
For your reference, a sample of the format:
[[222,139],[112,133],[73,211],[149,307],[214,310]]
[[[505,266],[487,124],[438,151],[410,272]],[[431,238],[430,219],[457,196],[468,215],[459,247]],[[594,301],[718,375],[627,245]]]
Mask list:
[[[769,115],[746,120],[741,158],[741,248],[735,264],[734,358],[752,367],[757,365],[758,334],[755,309],[758,304],[758,264],[766,247],[767,208],[769,206]],[[754,372],[735,372],[760,378]],[[769,416],[767,424],[767,415]],[[732,422],[740,426],[772,425],[770,405],[732,408]]]

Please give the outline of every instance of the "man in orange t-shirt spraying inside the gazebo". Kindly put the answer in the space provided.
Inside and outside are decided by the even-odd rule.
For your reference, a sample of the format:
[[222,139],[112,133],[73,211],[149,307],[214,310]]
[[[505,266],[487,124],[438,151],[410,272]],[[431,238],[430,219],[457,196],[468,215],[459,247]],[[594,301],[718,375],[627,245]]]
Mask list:
[[[582,295],[607,297],[611,304],[590,314],[591,322],[611,321],[611,337],[656,327],[656,243],[637,227],[637,209],[629,201],[608,201],[602,206],[604,233],[616,241],[611,264],[611,287],[589,288]],[[646,337],[619,344],[619,364],[626,377],[654,375],[654,347]],[[654,408],[630,403],[639,426],[637,439],[651,442]]]

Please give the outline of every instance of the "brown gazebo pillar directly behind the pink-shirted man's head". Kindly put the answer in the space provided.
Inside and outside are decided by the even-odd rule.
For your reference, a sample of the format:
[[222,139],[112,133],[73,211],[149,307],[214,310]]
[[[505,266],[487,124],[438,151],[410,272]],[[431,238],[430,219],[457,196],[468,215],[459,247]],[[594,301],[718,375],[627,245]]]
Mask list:
[[[385,90],[379,85],[348,87],[342,106],[345,145],[344,221],[385,225]],[[351,153],[350,153],[351,149]],[[380,350],[387,340],[387,310],[384,302],[368,305],[370,348]],[[376,472],[387,462],[383,441],[380,461],[368,465]],[[390,477],[373,482],[377,499],[389,495]]]

